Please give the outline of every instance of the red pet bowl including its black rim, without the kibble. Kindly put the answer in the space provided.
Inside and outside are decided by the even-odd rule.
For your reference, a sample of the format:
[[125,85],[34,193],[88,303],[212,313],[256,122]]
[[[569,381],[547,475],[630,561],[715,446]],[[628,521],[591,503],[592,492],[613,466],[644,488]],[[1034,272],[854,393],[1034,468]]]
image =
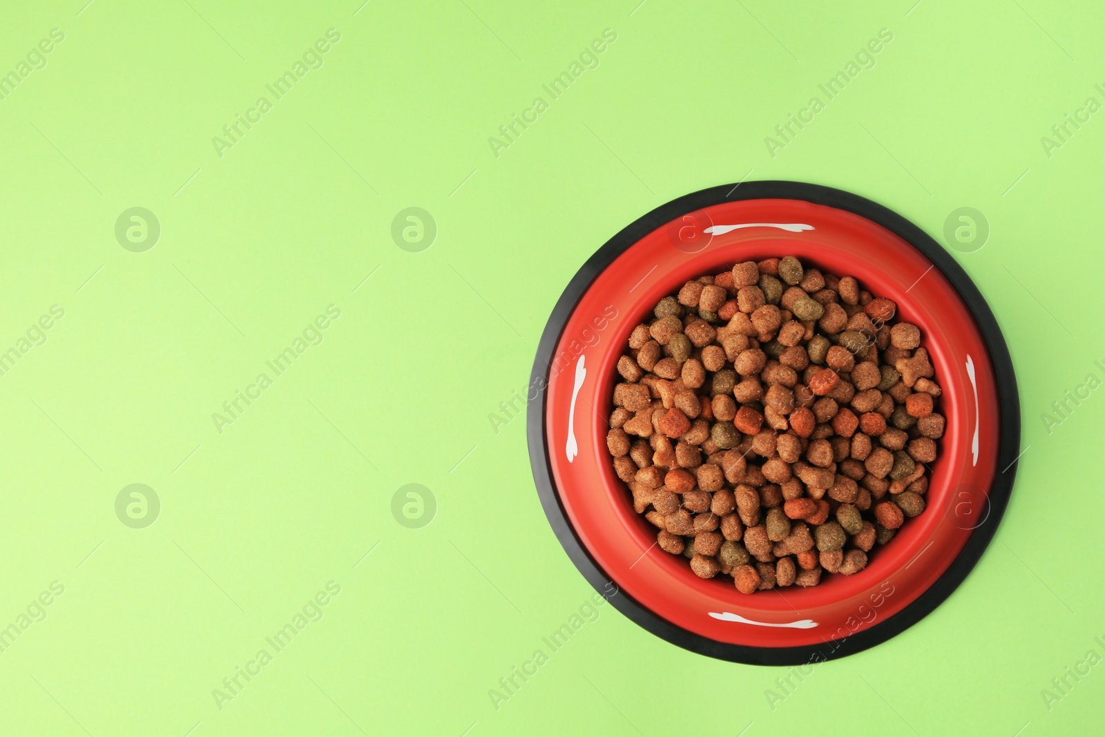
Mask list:
[[[607,450],[615,365],[630,331],[688,280],[793,255],[893,299],[920,327],[947,419],[927,508],[862,571],[810,588],[743,594],[696,577],[655,545]],[[1020,442],[1017,381],[985,299],[932,238],[870,200],[827,187],[745,182],[673,200],[591,256],[552,310],[530,387],[530,463],[545,514],[572,562],[645,630],[712,657],[797,665],[878,644],[967,577],[1009,499]],[[618,593],[610,596],[612,587]]]

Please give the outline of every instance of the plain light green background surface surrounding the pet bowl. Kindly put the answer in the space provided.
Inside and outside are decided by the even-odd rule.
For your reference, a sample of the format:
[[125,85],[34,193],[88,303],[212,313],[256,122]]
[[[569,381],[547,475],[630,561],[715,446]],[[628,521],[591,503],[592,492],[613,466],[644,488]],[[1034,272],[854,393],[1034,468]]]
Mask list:
[[[1041,696],[1105,656],[1105,399],[1041,420],[1105,378],[1105,113],[1041,144],[1105,103],[1099,4],[638,1],[4,11],[0,72],[65,38],[0,102],[0,350],[65,312],[0,377],[0,627],[64,593],[0,654],[0,733],[1099,730],[1105,667]],[[220,157],[212,137],[330,28],[324,65]],[[772,158],[765,137],[884,28],[874,67]],[[496,158],[487,138],[536,96]],[[956,208],[985,213],[989,242],[954,255],[1004,330],[1027,448],[996,540],[923,622],[774,709],[786,668],[684,652],[610,606],[496,709],[488,689],[592,591],[538,504],[524,419],[488,414],[601,243],[743,178],[848,189],[941,240]],[[131,207],[160,221],[145,253],[114,235]],[[390,235],[408,207],[438,224],[420,253]],[[322,345],[220,433],[212,413],[332,304]],[[115,514],[131,483],[161,502],[144,529]],[[438,504],[420,529],[391,513],[409,483]],[[323,619],[220,709],[212,689],[328,581]]]

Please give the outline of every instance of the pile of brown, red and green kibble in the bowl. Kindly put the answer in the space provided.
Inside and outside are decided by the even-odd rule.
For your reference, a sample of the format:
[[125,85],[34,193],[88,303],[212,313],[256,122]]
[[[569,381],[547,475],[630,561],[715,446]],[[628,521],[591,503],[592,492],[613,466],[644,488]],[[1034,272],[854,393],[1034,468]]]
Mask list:
[[660,301],[618,360],[607,446],[663,550],[745,593],[814,586],[925,509],[940,387],[896,310],[793,256]]

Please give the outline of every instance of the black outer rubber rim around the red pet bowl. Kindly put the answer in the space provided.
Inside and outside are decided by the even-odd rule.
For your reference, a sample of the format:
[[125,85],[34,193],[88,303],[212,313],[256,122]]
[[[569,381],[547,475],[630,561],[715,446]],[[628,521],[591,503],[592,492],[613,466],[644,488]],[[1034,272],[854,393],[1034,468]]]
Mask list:
[[[613,581],[590,557],[576,536],[556,492],[545,442],[546,397],[541,392],[539,411],[526,417],[529,461],[541,507],[557,539],[583,578],[629,619],[652,634],[691,652],[718,660],[753,665],[802,665],[824,662],[861,652],[890,640],[917,623],[955,591],[967,578],[990,544],[1013,486],[1020,453],[1020,400],[1017,376],[993,313],[962,267],[932,236],[896,212],[857,194],[821,185],[796,181],[746,181],[712,187],[676,198],[636,219],[587,260],[565,288],[541,334],[530,375],[530,387],[545,387],[548,381],[552,351],[572,310],[594,278],[627,249],[661,225],[680,215],[723,202],[758,199],[803,200],[862,215],[896,233],[920,251],[959,293],[989,351],[998,392],[998,457],[996,475],[988,495],[989,514],[972,531],[962,550],[948,569],[917,599],[893,617],[883,619],[866,630],[823,644],[790,647],[756,647],[718,642],[672,624],[654,614],[625,592],[610,596]],[[534,404],[530,403],[530,408]],[[998,471],[1002,470],[1002,471]]]

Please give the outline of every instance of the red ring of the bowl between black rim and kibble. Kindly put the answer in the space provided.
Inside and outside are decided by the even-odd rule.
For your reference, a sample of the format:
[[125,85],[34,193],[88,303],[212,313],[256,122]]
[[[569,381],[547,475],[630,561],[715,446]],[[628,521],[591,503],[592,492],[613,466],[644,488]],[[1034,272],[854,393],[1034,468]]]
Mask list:
[[[712,225],[749,224],[707,234]],[[790,232],[775,224],[812,229]],[[827,575],[811,588],[741,594],[728,577],[697,578],[682,556],[655,544],[633,512],[606,448],[614,369],[630,331],[691,278],[740,261],[794,255],[897,303],[916,324],[944,390],[947,429],[930,464],[927,508],[877,547],[853,576]],[[583,365],[582,382],[576,386]],[[578,396],[577,396],[578,394]],[[760,647],[809,645],[867,629],[932,586],[962,549],[994,476],[998,403],[993,369],[970,312],[919,251],[865,218],[801,200],[726,202],[649,233],[591,284],[568,318],[549,371],[546,442],[554,481],[576,535],[627,594],[656,615],[719,642]],[[570,425],[569,425],[570,421]],[[569,460],[569,429],[578,454]],[[712,615],[715,614],[715,615]],[[726,619],[716,615],[737,615]]]

